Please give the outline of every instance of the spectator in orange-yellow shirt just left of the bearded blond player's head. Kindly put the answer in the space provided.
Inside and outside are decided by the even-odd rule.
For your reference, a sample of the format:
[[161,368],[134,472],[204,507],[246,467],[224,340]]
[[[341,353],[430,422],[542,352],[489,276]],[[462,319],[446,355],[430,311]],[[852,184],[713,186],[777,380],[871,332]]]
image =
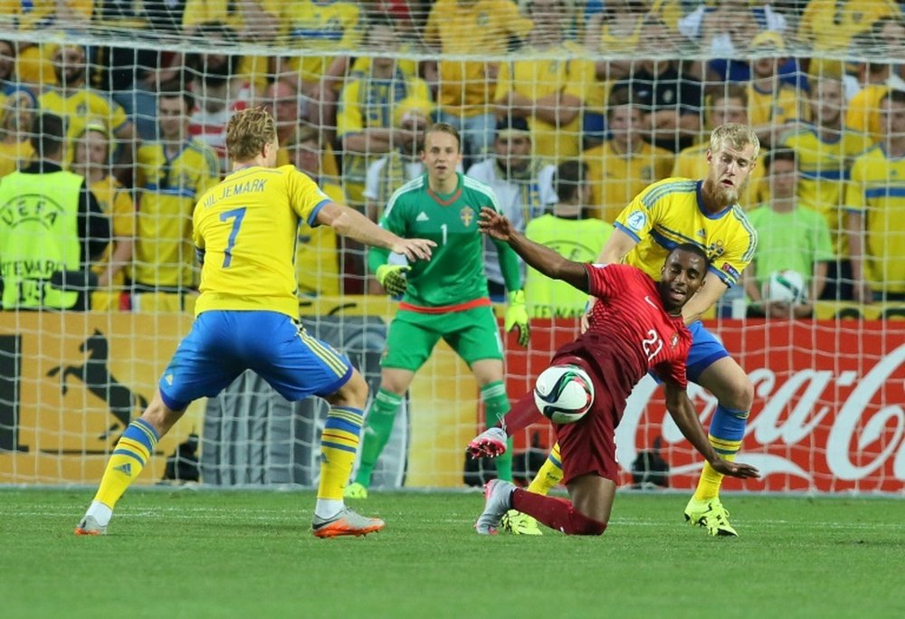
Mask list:
[[592,214],[612,224],[633,195],[669,176],[672,152],[644,141],[644,114],[629,88],[610,92],[606,118],[612,138],[581,158],[587,164]]

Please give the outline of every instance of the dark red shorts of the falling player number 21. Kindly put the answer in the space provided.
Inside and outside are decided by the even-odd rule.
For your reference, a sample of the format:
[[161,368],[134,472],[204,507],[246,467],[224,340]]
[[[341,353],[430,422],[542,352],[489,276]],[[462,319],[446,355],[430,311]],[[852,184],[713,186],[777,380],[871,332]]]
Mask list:
[[617,409],[610,390],[594,365],[571,354],[553,359],[554,366],[570,364],[582,367],[591,377],[591,382],[594,383],[594,405],[574,424],[553,424],[562,456],[563,483],[588,474],[618,483],[615,427],[622,411]]

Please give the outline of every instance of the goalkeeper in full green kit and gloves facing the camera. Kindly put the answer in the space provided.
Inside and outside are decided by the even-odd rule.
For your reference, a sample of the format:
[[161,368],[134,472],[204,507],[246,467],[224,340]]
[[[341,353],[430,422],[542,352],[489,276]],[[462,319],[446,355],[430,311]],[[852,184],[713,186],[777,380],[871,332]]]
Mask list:
[[[399,188],[386,205],[380,225],[402,237],[437,243],[429,262],[411,266],[387,263],[389,252],[370,250],[368,266],[391,295],[403,295],[390,324],[381,361],[380,389],[367,411],[361,461],[348,499],[367,498],[367,487],[380,452],[393,430],[396,411],[415,372],[443,338],[472,369],[488,427],[509,412],[503,382],[500,331],[493,315],[484,276],[484,238],[478,230],[481,207],[500,211],[493,190],[456,171],[462,142],[451,125],[437,123],[424,135],[422,154],[427,173]],[[509,290],[505,328],[519,329],[519,344],[528,346],[528,311],[521,290],[519,258],[507,243],[493,241]],[[511,439],[510,439],[511,441]],[[495,459],[497,475],[512,480],[511,444],[506,460]]]

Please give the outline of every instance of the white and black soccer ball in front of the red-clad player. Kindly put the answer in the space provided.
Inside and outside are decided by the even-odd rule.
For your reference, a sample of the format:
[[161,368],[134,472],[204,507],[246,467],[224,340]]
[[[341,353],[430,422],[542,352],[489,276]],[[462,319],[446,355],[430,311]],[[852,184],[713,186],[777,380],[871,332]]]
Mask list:
[[578,366],[548,367],[538,376],[534,404],[554,424],[573,424],[594,403],[594,384]]

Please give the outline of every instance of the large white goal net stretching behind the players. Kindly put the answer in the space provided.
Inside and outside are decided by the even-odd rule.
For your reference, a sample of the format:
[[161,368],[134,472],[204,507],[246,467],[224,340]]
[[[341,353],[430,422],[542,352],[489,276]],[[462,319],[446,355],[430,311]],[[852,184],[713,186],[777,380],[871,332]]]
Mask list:
[[[738,202],[760,242],[703,319],[753,384],[739,459],[765,475],[726,487],[902,492],[905,25],[896,3],[7,4],[0,483],[100,478],[191,326],[191,215],[232,169],[226,122],[264,106],[277,121],[278,165],[375,221],[424,174],[424,129],[450,123],[462,138],[458,169],[491,186],[529,237],[583,262],[645,187],[719,167],[708,163],[711,129],[750,125],[760,154]],[[58,153],[49,115],[62,119]],[[40,199],[9,189],[14,175],[37,186],[42,158],[85,177],[108,223],[102,238],[87,224],[52,232],[57,181]],[[696,242],[698,231],[673,232]],[[63,246],[70,257],[54,257]],[[490,244],[485,254],[502,327],[504,281]],[[367,249],[302,225],[295,262],[306,327],[347,352],[376,392],[398,302],[369,273]],[[585,303],[536,271],[521,276],[532,336],[526,350],[502,334],[512,401],[576,337]],[[690,393],[706,427],[716,396]],[[245,375],[189,407],[143,481],[313,485],[325,415],[323,403],[287,403]],[[467,461],[464,447],[483,427],[478,385],[442,340],[405,396],[374,484],[480,483],[493,466]],[[530,479],[553,441],[544,423],[515,437],[517,479]],[[616,444],[621,484],[691,489],[697,479],[700,456],[651,378],[633,392]]]

